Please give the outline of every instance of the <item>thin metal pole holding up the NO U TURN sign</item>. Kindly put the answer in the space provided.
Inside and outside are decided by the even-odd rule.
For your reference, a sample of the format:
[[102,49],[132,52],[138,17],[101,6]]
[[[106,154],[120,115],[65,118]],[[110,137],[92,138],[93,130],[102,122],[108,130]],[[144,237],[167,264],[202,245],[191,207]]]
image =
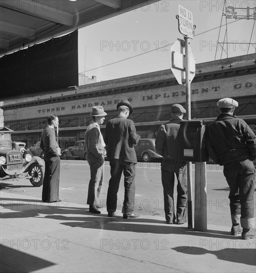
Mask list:
[[[191,102],[190,102],[190,56],[189,56],[189,41],[185,39],[185,77],[186,77],[186,118],[191,121]],[[187,162],[187,221],[188,227],[193,228],[192,215],[192,162]]]

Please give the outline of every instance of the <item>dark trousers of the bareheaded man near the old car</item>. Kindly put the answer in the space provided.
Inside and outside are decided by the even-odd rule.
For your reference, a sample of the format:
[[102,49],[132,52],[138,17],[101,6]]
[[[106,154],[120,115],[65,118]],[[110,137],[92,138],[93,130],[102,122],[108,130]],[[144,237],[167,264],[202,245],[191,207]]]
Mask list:
[[43,181],[42,201],[59,200],[60,157],[45,151],[45,173]]

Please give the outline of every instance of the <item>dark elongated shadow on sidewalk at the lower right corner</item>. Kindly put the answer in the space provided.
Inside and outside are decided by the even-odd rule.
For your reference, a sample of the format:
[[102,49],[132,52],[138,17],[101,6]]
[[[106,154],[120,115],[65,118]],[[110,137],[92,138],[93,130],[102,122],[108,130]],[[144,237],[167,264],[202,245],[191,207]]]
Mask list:
[[[242,242],[242,241],[241,241]],[[244,241],[245,242],[245,241]],[[243,247],[244,245],[244,247]],[[242,247],[241,247],[242,246]],[[238,243],[237,245],[232,246],[232,248],[223,248],[221,244],[215,244],[213,248],[216,247],[222,248],[221,250],[207,250],[199,247],[190,247],[190,246],[179,246],[172,248],[173,250],[183,253],[183,254],[191,254],[191,255],[204,255],[204,254],[213,254],[219,260],[245,264],[249,266],[256,266],[256,249],[249,249],[246,244]],[[214,265],[212,265],[214,268]],[[225,271],[225,270],[224,270]]]

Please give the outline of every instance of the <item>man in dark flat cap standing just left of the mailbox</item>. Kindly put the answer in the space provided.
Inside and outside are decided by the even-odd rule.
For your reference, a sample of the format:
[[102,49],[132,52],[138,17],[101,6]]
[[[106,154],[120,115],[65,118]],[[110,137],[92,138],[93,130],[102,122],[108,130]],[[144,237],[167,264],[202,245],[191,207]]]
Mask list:
[[[171,120],[160,127],[155,142],[157,152],[163,156],[161,173],[167,224],[184,224],[187,221],[187,162],[178,161],[178,130],[184,113],[186,110],[182,105],[173,104]],[[173,200],[174,174],[177,177],[176,215]]]

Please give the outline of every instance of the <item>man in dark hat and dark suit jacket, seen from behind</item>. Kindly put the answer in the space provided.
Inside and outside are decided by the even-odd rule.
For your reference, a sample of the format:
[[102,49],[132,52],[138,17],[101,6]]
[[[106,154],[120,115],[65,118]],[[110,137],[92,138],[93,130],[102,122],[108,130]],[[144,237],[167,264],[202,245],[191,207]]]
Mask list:
[[137,156],[134,149],[139,141],[135,125],[127,119],[132,114],[133,108],[128,100],[122,100],[116,106],[118,116],[106,124],[105,143],[107,158],[110,163],[110,174],[107,191],[108,216],[115,214],[117,207],[117,192],[122,173],[124,174],[124,204],[123,218],[136,218],[140,215],[134,212],[135,203],[135,166]]

